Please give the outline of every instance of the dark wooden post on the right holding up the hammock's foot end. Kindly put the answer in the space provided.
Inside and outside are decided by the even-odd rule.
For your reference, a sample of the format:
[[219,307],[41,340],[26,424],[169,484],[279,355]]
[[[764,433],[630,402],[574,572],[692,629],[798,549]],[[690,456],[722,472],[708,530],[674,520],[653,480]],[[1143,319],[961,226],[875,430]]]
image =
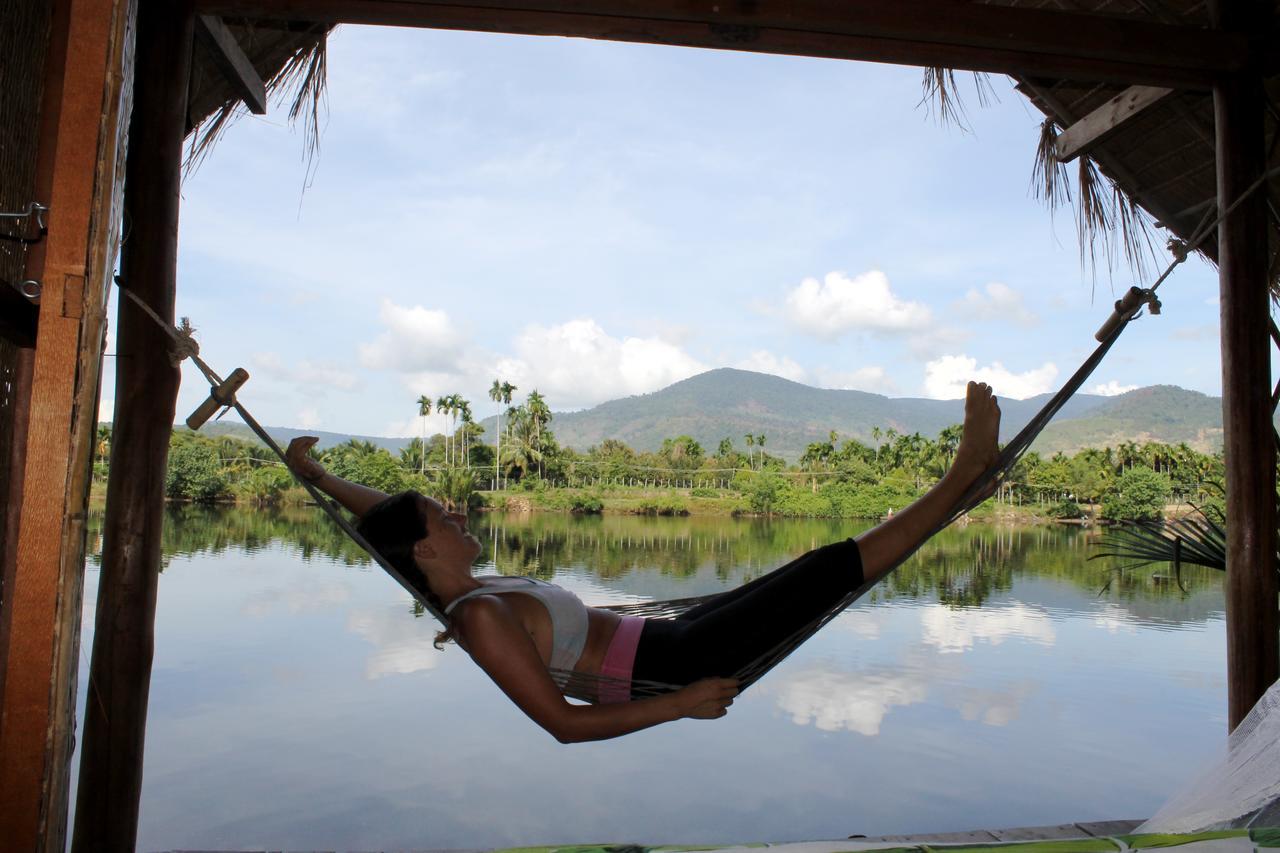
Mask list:
[[[1263,5],[1215,4],[1216,23],[1244,31],[1266,23]],[[1217,204],[1225,210],[1266,169],[1262,74],[1243,72],[1213,87]],[[1266,187],[1217,232],[1226,456],[1228,726],[1235,726],[1280,676],[1276,612],[1275,438],[1267,292]]]

